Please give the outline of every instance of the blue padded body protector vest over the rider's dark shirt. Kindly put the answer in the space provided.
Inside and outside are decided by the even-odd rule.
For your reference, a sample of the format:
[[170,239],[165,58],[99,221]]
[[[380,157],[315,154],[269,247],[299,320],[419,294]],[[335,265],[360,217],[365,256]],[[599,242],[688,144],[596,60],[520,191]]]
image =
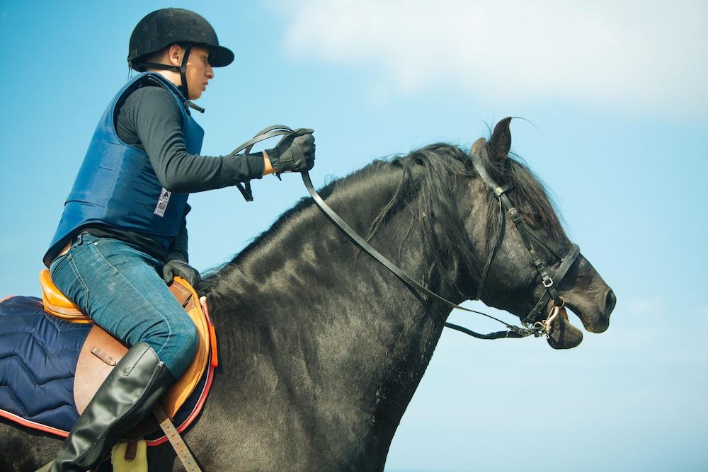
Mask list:
[[177,236],[189,194],[163,188],[147,153],[122,142],[115,131],[114,120],[120,106],[149,79],[172,94],[182,112],[187,151],[200,153],[204,130],[190,115],[186,100],[176,86],[153,72],[139,74],[128,81],[108,104],[93,133],[74,187],[64,204],[59,227],[45,254],[47,267],[78,231],[94,224],[147,234],[166,250]]

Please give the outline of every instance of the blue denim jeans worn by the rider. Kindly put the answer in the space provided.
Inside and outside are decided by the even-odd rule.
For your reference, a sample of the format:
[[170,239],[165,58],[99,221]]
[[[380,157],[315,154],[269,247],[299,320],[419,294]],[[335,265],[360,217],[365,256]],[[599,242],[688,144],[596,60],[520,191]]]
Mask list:
[[148,343],[178,379],[194,359],[198,333],[158,272],[162,261],[113,238],[81,233],[50,266],[59,290],[128,346]]

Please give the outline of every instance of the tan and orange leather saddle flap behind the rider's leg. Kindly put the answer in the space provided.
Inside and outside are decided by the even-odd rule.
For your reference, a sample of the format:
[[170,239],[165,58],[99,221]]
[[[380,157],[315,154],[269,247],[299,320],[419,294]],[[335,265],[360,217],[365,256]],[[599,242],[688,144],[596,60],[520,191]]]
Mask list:
[[[201,306],[196,302],[198,300],[197,294],[188,282],[181,277],[175,277],[170,291],[185,307],[185,311],[194,321],[199,334],[199,345],[194,360],[161,399],[167,415],[174,418],[177,410],[194,391],[207,367],[211,348],[211,333]],[[125,355],[127,350],[125,345],[122,345],[99,326],[94,325],[91,328],[89,337],[86,338],[86,343],[81,348],[79,362],[76,364],[76,376],[74,376],[74,402],[79,413],[84,411],[98,387],[103,384],[115,363]],[[142,434],[147,434],[151,428],[156,430],[157,427],[156,422],[152,421],[149,427],[141,427],[140,430]],[[142,434],[138,434],[138,436]]]

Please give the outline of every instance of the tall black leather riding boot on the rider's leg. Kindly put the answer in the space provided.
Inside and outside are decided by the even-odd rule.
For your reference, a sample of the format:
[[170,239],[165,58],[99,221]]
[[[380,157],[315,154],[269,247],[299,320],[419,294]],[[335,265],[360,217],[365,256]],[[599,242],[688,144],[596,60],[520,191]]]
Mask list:
[[147,343],[137,343],[105,379],[67,437],[52,472],[87,471],[153,410],[173,383]]

